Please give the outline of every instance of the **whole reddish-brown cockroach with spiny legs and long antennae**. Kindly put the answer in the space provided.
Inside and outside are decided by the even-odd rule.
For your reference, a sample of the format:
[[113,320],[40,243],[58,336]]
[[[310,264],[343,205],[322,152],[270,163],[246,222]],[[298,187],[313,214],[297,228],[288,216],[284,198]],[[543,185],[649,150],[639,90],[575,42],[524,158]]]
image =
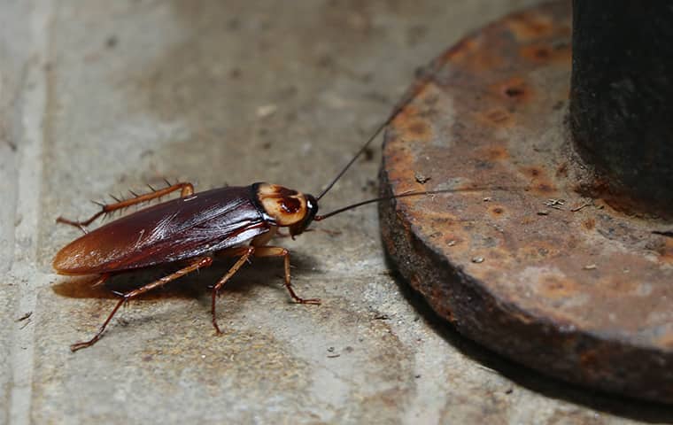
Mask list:
[[[290,297],[299,304],[320,304],[320,299],[300,298],[292,290],[290,252],[280,246],[268,246],[267,243],[275,236],[278,228],[289,228],[290,236],[294,238],[294,236],[301,235],[312,221],[325,220],[332,215],[343,213],[360,205],[392,198],[369,199],[339,208],[331,213],[317,214],[318,201],[321,197],[334,186],[352,163],[360,157],[360,154],[367,149],[369,143],[404,108],[412,98],[413,89],[407,93],[403,102],[398,104],[388,119],[375,130],[374,134],[367,139],[367,143],[336,174],[336,177],[318,197],[265,182],[254,183],[247,187],[224,187],[198,193],[194,192],[191,183],[179,182],[167,183],[164,189],[151,188],[151,193],[144,195],[136,195],[132,192],[134,197],[125,200],[116,199],[117,202],[114,204],[99,204],[100,211],[88,220],[74,221],[59,217],[58,222],[80,228],[84,235],[58,251],[53,260],[53,267],[58,274],[99,274],[97,283],[103,283],[113,274],[175,261],[186,262],[184,267],[159,280],[126,293],[115,292],[120,296],[120,300],[98,329],[97,334],[89,341],[72,344],[70,349],[74,352],[95,344],[121,305],[185,274],[202,267],[209,267],[213,264],[215,255],[237,258],[234,265],[213,286],[211,314],[213,327],[218,334],[221,333],[215,315],[215,300],[218,292],[251,257],[282,257],[285,288],[290,292]],[[178,190],[180,191],[178,198],[128,214],[90,232],[87,230],[87,227],[100,216],[131,205],[148,202]],[[430,193],[437,193],[437,191],[406,192],[393,197]]]

